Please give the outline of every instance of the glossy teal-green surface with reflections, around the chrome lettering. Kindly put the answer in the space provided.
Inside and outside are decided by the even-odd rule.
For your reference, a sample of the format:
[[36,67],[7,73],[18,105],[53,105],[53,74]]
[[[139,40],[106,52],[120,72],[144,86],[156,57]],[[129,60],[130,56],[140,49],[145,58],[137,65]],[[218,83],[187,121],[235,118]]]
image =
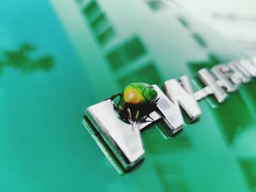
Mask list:
[[0,191],[256,191],[256,82],[176,137],[143,131],[146,159],[119,175],[82,125],[129,82],[162,85],[247,57],[171,4],[1,1]]

